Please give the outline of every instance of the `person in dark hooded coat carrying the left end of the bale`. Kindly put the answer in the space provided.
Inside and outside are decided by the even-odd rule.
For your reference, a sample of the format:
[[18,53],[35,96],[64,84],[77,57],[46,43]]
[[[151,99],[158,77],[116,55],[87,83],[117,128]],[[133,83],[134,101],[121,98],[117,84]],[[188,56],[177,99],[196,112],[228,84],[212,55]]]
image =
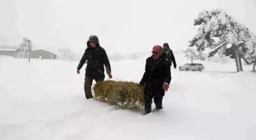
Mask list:
[[93,98],[91,94],[92,81],[96,82],[104,81],[104,65],[109,78],[112,78],[110,61],[108,60],[107,53],[99,43],[98,36],[90,36],[87,42],[87,48],[82,56],[82,59],[77,67],[77,73],[80,73],[80,69],[87,61],[87,67],[85,68],[85,98]]

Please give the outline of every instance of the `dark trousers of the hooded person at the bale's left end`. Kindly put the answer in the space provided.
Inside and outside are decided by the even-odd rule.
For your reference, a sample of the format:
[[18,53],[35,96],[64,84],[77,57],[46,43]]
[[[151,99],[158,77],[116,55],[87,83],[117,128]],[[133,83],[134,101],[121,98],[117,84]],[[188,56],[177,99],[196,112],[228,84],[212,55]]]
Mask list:
[[92,81],[95,80],[96,82],[101,82],[104,81],[104,78],[97,78],[97,79],[93,79],[91,77],[85,76],[85,98],[89,99],[89,98],[93,98],[93,95],[91,94],[91,85],[92,85]]

